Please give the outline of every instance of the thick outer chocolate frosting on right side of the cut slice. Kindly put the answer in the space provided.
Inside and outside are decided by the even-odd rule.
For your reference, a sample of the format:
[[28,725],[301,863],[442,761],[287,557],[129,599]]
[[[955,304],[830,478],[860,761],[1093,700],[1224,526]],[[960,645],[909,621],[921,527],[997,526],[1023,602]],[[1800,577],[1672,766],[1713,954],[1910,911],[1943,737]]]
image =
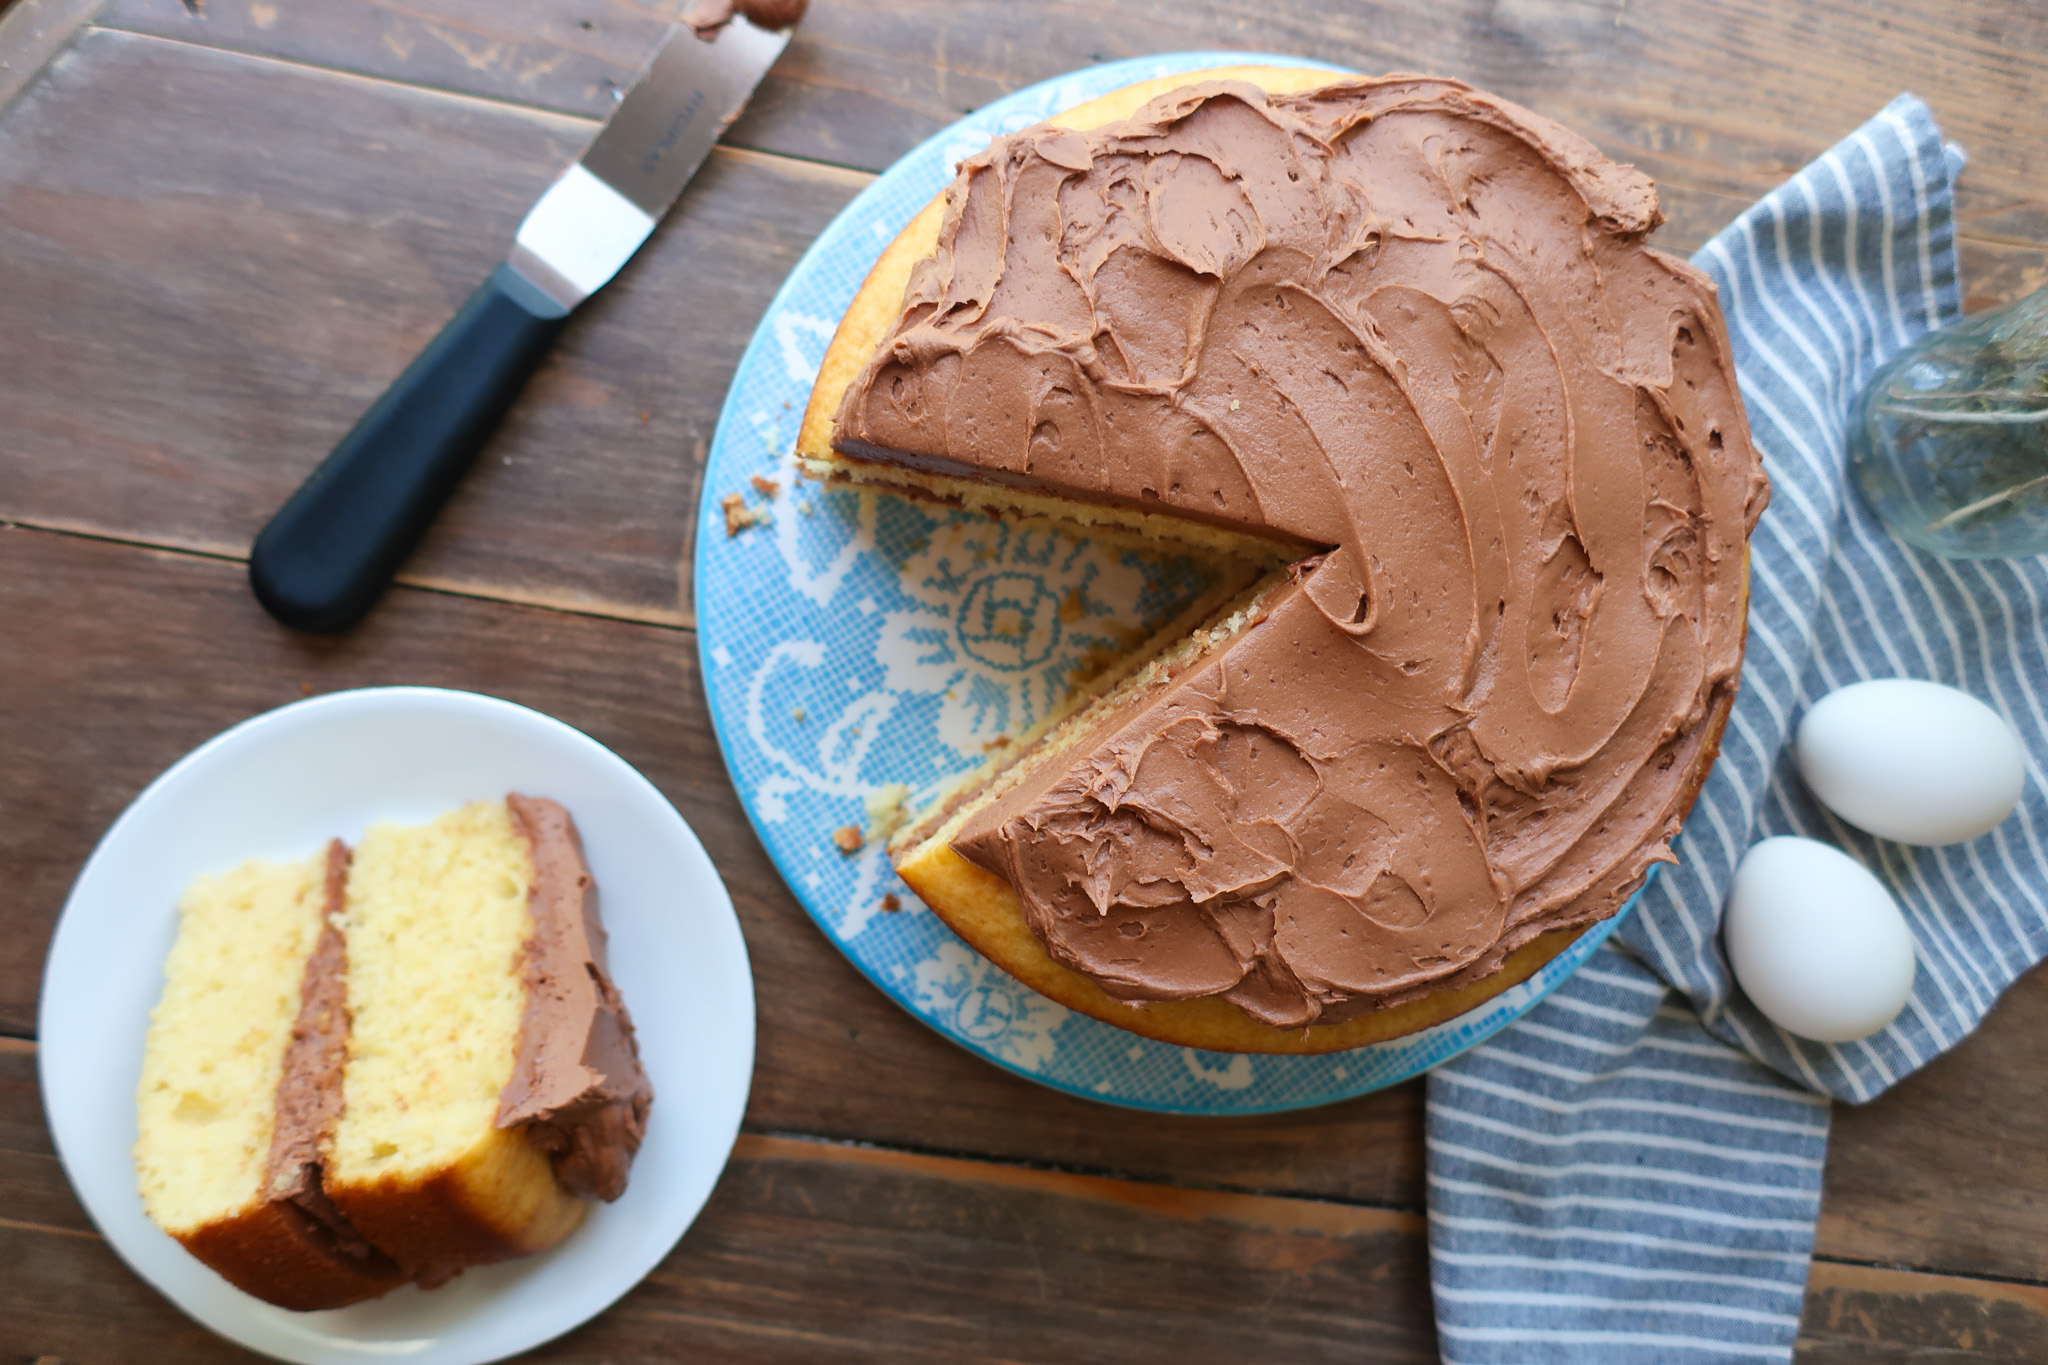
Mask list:
[[498,1093],[498,1128],[524,1126],[555,1179],[590,1199],[625,1193],[653,1089],[633,1019],[604,964],[598,884],[575,821],[541,796],[506,796],[532,849],[532,935],[518,1060]]

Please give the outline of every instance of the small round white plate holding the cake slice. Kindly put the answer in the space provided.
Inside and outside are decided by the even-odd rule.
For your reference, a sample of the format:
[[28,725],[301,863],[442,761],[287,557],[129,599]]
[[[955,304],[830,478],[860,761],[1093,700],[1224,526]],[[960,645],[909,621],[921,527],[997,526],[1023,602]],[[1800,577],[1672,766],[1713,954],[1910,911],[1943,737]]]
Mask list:
[[[377,819],[424,821],[530,792],[575,817],[610,966],[655,1105],[627,1193],[551,1252],[432,1293],[293,1314],[158,1232],[135,1193],[143,1033],[199,872],[301,857]],[[754,980],[725,884],[676,808],[625,759],[539,712],[469,692],[338,692],[219,735],[135,798],[86,862],[43,976],[43,1103],[72,1185],[115,1250],[221,1336],[303,1365],[479,1365],[602,1312],[690,1226],[725,1169],[754,1074]]]

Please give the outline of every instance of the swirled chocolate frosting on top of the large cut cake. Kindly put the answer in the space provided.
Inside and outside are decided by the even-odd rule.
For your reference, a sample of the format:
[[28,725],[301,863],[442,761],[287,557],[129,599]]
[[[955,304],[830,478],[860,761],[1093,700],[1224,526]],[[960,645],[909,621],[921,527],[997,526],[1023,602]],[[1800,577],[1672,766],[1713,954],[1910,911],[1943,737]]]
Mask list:
[[1669,860],[1767,485],[1659,221],[1634,168],[1415,76],[1206,82],[961,166],[836,448],[1321,551],[954,837],[1057,962],[1298,1027]]

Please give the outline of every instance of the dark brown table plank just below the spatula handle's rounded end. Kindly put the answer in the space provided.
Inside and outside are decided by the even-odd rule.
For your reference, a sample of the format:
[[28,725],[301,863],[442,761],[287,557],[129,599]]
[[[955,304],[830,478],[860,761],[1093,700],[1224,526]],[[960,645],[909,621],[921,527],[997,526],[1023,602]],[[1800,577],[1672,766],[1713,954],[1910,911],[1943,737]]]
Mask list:
[[[72,876],[143,784],[309,692],[432,684],[508,696],[610,745],[684,812],[739,907],[762,1001],[748,1124],[926,1152],[1421,1207],[1421,1089],[1296,1115],[1141,1115],[985,1066],[868,986],[795,905],[731,792],[688,632],[401,589],[344,641],[279,630],[240,569],[0,530],[0,1031],[29,1033]],[[2048,1279],[2048,974],[1956,1054],[1843,1111],[1825,1254]],[[4,1138],[4,1134],[0,1134]]]

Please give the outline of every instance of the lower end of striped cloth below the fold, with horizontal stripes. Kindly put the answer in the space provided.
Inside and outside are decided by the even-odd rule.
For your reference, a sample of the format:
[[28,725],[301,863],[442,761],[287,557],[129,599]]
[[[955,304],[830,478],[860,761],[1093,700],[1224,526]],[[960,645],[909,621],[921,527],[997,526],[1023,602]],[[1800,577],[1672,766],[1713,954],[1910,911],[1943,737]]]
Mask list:
[[1825,1099],[1610,941],[1430,1072],[1444,1359],[1790,1359],[1825,1152]]

